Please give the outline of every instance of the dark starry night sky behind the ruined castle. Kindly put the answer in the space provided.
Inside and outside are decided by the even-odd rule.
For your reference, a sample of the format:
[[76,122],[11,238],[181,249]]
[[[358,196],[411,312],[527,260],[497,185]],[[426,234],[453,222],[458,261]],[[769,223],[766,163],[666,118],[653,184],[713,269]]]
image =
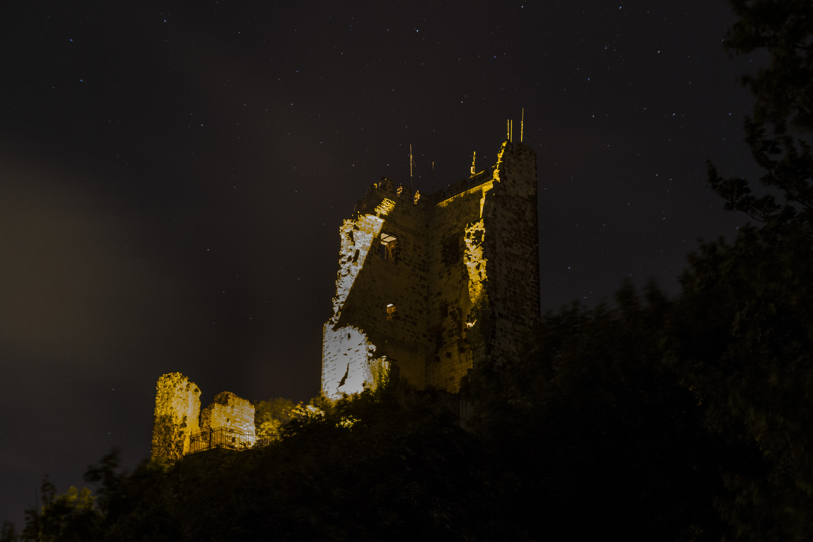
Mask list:
[[338,227],[410,182],[410,144],[415,188],[446,187],[524,108],[543,310],[676,293],[746,222],[706,186],[706,158],[757,173],[738,77],[764,58],[724,52],[722,0],[8,3],[0,520],[46,473],[146,457],[163,373],[204,405],[316,395]]

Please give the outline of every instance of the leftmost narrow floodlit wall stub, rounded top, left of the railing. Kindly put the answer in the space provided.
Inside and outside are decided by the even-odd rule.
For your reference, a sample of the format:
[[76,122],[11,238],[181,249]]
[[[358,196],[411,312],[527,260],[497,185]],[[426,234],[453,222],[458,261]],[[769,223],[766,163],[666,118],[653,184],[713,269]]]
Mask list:
[[189,436],[200,431],[200,389],[180,373],[168,373],[155,387],[153,459],[180,459],[189,452]]

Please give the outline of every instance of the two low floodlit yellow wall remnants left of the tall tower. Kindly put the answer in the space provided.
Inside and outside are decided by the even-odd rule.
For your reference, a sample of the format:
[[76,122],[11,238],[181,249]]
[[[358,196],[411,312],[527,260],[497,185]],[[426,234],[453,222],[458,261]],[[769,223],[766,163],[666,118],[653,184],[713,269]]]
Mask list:
[[176,460],[189,453],[189,438],[201,431],[226,429],[254,444],[254,405],[232,392],[220,392],[201,410],[200,389],[180,373],[163,375],[155,387],[152,458]]

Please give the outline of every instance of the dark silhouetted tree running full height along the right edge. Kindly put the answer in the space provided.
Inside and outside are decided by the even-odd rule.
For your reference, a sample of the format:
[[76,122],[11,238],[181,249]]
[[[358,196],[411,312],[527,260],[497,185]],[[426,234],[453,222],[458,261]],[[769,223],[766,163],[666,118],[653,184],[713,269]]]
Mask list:
[[[733,245],[716,241],[690,257],[672,329],[672,362],[702,397],[706,427],[720,437],[728,495],[720,512],[743,540],[813,535],[813,4],[731,0],[740,20],[726,48],[764,48],[770,67],[744,76],[756,103],[746,142],[769,193],[744,179],[709,180],[726,207],[762,225]],[[776,202],[773,193],[785,202]]]

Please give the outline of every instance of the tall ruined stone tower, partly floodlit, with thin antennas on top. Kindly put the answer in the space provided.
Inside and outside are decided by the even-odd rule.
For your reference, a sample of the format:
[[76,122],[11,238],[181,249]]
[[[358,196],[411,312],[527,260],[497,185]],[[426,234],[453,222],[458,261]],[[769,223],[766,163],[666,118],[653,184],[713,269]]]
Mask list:
[[506,141],[497,163],[424,196],[382,178],[340,228],[322,392],[360,392],[390,364],[419,389],[458,392],[476,363],[515,354],[540,320],[537,155]]

